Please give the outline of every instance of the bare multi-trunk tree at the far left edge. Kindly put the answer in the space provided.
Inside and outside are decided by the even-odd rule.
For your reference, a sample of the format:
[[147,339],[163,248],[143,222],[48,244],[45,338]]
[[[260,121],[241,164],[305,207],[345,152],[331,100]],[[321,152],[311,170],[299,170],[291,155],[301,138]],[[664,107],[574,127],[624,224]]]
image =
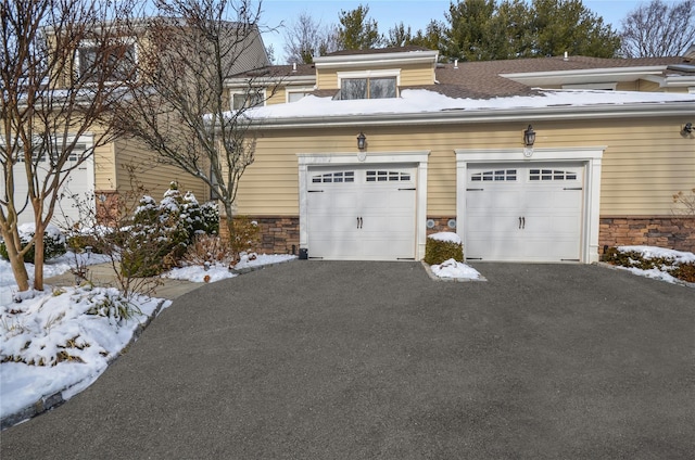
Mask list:
[[[30,288],[23,258],[33,245],[34,289],[43,289],[43,235],[61,188],[111,141],[108,113],[122,93],[116,82],[134,72],[124,65],[131,48],[116,30],[132,7],[99,0],[3,0],[0,7],[0,231],[20,291]],[[29,242],[20,238],[22,213],[34,217]]]

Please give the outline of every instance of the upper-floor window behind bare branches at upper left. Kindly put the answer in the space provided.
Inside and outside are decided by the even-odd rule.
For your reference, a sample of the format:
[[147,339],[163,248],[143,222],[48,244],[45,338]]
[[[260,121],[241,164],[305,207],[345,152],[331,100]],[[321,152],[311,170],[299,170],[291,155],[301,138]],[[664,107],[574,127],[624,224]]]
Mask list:
[[126,81],[137,68],[137,47],[134,39],[112,40],[108,43],[85,41],[77,50],[77,73],[87,81]]

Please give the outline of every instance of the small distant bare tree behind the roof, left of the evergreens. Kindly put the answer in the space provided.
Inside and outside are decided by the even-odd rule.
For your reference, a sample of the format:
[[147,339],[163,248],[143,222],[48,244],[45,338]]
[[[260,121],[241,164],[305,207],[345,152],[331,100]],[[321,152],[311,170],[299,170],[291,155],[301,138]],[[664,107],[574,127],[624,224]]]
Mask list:
[[320,22],[303,12],[285,33],[287,62],[311,64],[314,56],[337,51],[336,40],[334,27],[321,27]]

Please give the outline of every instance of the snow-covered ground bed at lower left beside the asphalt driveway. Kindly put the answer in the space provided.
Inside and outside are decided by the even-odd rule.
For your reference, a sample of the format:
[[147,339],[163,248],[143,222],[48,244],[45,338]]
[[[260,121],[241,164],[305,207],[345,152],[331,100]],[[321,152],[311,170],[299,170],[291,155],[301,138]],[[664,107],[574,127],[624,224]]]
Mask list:
[[0,417],[89,386],[156,307],[170,304],[149,297],[126,302],[113,288],[84,286],[0,306]]

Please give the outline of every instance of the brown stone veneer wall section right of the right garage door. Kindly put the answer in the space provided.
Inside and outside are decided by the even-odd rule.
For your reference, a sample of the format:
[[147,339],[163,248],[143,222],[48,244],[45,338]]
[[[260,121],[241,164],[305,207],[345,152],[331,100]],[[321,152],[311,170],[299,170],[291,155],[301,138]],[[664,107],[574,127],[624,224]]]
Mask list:
[[648,245],[695,252],[695,216],[602,216],[598,244]]

